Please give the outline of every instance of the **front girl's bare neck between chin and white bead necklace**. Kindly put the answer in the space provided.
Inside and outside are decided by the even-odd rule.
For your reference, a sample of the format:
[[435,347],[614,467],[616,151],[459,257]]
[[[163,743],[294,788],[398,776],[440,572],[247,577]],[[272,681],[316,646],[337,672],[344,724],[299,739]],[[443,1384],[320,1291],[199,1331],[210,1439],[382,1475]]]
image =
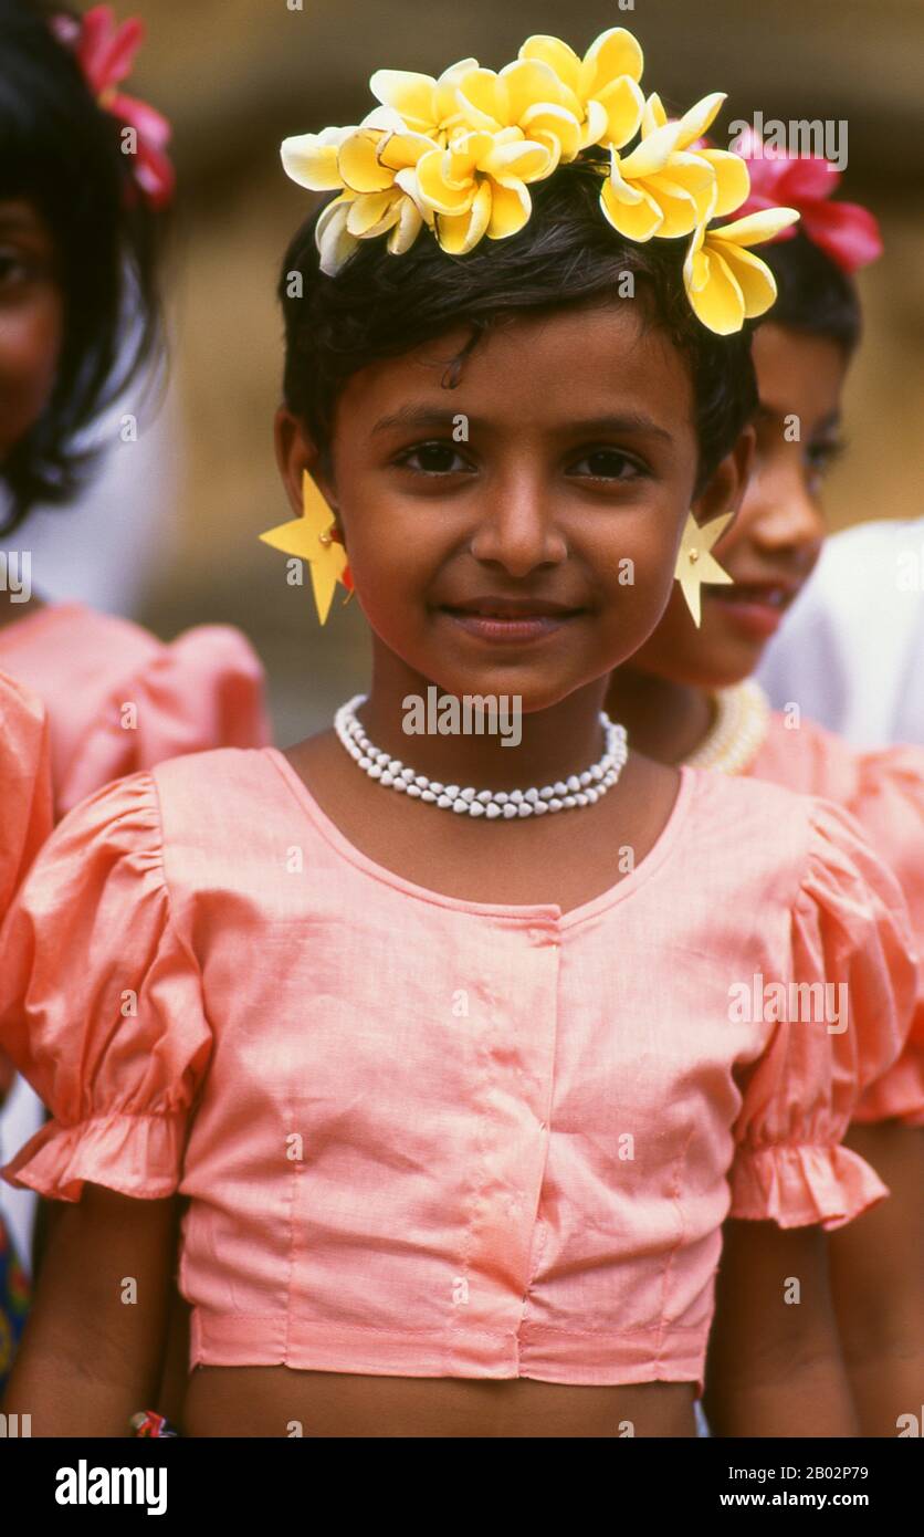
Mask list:
[[[470,707],[467,715],[464,710],[466,695],[449,695],[403,664],[377,659],[358,715],[375,747],[427,779],[478,790],[541,787],[583,773],[606,752],[600,727],[606,682],[606,676],[598,678],[529,715],[518,710],[517,695],[498,692],[498,710],[484,713],[478,733],[478,716]],[[415,712],[407,698],[420,699]],[[423,730],[406,729],[414,725]]]

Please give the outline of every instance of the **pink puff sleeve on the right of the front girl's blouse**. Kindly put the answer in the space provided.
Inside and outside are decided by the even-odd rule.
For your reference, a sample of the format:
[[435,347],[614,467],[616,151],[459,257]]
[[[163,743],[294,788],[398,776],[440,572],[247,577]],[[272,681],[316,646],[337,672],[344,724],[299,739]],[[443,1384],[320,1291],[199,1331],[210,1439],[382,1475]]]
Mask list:
[[764,1016],[775,1019],[772,1034],[746,1074],[730,1171],[729,1216],[783,1228],[838,1228],[889,1194],[839,1142],[859,1094],[896,1059],[916,996],[895,876],[847,812],[812,805],[779,967],[784,993]]

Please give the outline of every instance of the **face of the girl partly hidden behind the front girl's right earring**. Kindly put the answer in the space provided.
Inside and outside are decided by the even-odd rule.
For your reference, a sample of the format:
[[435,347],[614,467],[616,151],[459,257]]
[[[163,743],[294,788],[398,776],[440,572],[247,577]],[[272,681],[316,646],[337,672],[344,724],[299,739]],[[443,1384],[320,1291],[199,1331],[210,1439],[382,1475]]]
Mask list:
[[733,586],[703,587],[700,630],[678,593],[633,669],[701,689],[747,678],[821,553],[821,483],[839,449],[847,355],[764,324],[753,338],[756,458],[741,510],[712,553]]

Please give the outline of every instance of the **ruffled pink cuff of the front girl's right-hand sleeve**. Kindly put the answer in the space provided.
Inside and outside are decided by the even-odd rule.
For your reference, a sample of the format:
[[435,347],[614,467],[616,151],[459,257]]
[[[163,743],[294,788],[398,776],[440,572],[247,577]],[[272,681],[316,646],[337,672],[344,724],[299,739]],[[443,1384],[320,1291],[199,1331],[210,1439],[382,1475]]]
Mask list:
[[730,1185],[730,1217],[770,1220],[781,1228],[843,1228],[889,1194],[866,1159],[841,1145],[743,1151]]

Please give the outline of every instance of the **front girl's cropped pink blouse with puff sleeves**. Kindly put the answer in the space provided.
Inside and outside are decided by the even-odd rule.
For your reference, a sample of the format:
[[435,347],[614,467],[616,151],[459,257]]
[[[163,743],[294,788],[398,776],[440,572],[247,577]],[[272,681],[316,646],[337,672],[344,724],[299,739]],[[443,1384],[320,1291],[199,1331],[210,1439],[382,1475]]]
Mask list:
[[[68,816],[0,933],[54,1113],[3,1176],[189,1197],[191,1366],[701,1391],[723,1219],[887,1194],[838,1142],[910,945],[850,818],[776,785],[684,768],[563,913],[383,868],[275,749],[175,758]],[[826,982],[849,1011],[799,1019]]]

